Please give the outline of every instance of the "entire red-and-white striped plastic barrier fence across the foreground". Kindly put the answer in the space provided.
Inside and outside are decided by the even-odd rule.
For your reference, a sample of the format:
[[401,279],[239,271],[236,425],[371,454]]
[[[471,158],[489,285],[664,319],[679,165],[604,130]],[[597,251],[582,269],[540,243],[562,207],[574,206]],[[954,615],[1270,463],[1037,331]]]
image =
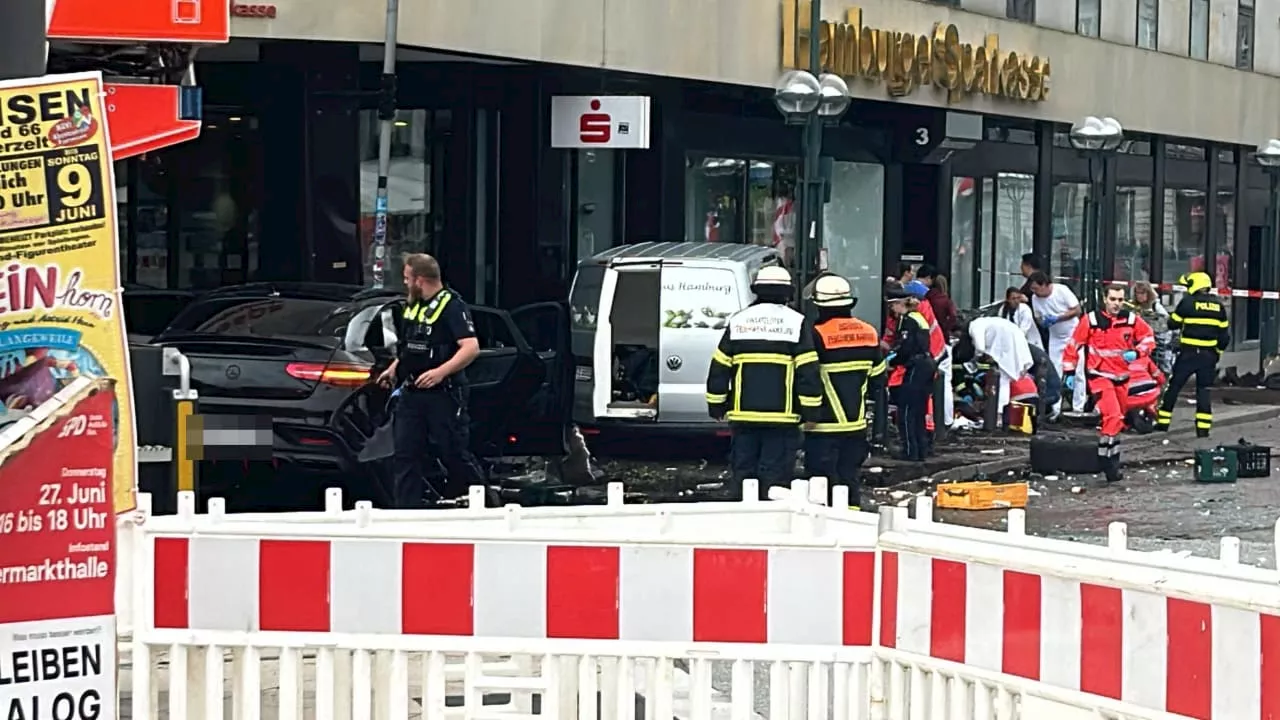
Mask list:
[[415,697],[431,717],[538,698],[549,717],[1280,720],[1280,574],[1238,543],[1183,559],[1027,537],[1020,510],[1002,533],[933,524],[928,501],[922,520],[819,506],[822,482],[755,493],[294,515],[186,497],[125,525],[133,716],[164,685],[169,716],[221,717],[230,651],[244,716],[406,717]]

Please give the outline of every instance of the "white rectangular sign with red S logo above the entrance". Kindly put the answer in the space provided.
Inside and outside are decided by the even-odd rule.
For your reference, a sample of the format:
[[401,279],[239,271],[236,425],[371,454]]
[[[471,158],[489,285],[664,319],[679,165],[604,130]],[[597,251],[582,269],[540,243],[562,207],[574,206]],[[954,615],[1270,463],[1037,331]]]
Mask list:
[[636,95],[552,97],[552,147],[646,150],[650,100]]

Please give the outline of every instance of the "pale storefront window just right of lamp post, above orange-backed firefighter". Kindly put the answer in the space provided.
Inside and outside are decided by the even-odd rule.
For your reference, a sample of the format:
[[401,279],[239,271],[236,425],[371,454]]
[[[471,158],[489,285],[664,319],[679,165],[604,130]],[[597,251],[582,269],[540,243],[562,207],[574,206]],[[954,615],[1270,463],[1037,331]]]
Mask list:
[[854,288],[854,313],[879,327],[883,278],[884,168],[870,163],[835,163],[831,202],[823,213],[827,269]]

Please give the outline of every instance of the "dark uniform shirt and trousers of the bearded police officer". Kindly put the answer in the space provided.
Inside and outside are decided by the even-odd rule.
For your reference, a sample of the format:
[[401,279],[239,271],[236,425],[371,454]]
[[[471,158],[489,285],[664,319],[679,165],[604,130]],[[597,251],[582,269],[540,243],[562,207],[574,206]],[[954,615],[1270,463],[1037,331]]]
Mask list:
[[484,482],[471,454],[466,373],[454,373],[428,389],[413,386],[419,375],[449,361],[458,351],[458,341],[471,337],[476,337],[471,313],[449,288],[404,307],[396,369],[402,389],[393,418],[396,502],[401,509],[422,506],[428,489],[422,465],[431,452],[447,473],[444,487],[431,488],[436,493],[461,497],[468,487]]

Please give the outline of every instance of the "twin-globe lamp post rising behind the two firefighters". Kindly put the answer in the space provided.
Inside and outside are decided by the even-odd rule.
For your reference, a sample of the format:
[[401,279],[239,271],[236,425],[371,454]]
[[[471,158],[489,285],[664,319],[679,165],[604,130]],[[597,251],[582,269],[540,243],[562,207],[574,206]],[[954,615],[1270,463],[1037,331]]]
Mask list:
[[782,76],[773,91],[773,104],[786,118],[787,124],[804,126],[796,202],[795,259],[794,270],[797,287],[809,284],[818,272],[818,255],[822,247],[823,202],[827,178],[822,173],[822,128],[836,124],[849,110],[849,86],[840,76],[822,72],[822,59],[818,54],[817,29],[822,26],[822,3],[813,0],[809,27],[813,28],[813,41],[809,42],[809,70],[791,70]]

